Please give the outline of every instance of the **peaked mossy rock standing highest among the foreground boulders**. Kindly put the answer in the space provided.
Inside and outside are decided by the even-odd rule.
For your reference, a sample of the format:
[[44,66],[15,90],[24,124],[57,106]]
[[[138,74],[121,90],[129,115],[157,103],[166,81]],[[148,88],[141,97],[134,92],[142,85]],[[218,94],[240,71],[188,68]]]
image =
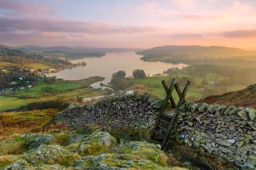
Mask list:
[[80,155],[91,155],[110,146],[117,146],[117,139],[106,131],[96,132],[86,137],[77,152]]

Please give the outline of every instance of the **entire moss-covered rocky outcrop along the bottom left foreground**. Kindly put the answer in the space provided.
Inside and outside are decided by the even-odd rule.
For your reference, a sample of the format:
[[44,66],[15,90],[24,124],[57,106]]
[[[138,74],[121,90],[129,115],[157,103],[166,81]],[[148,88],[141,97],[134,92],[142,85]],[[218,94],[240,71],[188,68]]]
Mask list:
[[134,141],[118,146],[117,139],[98,130],[71,146],[41,145],[24,156],[5,169],[167,168],[167,156],[159,145]]

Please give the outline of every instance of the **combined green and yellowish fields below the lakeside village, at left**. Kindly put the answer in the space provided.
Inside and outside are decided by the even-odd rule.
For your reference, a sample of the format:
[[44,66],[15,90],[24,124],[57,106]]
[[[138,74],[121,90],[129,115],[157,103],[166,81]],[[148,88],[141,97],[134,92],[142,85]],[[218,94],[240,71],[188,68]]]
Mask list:
[[[68,81],[68,82],[56,82],[56,83],[45,83],[42,80],[36,84],[35,87],[30,88],[28,91],[19,91],[13,96],[0,96],[0,111],[7,109],[14,109],[22,105],[26,105],[37,101],[47,100],[65,100],[71,103],[76,103],[77,96],[80,97],[93,97],[108,94],[108,91],[93,90],[88,87],[89,84],[103,80],[100,76],[93,76],[87,79]],[[58,92],[55,94],[46,94],[42,91],[42,87],[52,87]],[[31,98],[26,98],[29,96]],[[34,98],[33,98],[34,97]]]

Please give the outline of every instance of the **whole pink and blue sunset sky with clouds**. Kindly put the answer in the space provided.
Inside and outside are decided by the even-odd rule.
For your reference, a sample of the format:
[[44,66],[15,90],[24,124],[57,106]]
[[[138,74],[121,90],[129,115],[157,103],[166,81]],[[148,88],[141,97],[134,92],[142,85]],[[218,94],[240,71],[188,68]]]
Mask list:
[[0,44],[256,46],[255,0],[0,0]]

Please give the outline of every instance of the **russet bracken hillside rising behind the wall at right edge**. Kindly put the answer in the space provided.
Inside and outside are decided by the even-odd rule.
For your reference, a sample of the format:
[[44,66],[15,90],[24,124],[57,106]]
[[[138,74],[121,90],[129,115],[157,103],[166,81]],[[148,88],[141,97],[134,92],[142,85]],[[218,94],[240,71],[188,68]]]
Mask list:
[[208,96],[199,102],[208,104],[234,105],[236,107],[248,107],[256,109],[256,84],[243,90],[228,92],[222,95]]

